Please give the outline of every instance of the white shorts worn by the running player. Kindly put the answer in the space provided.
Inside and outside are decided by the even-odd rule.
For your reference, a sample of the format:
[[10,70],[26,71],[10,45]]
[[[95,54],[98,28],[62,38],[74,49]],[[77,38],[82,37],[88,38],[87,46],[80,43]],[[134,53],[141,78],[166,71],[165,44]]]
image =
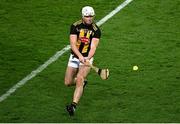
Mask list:
[[[90,64],[93,63],[93,60],[94,60],[93,58],[90,59]],[[68,66],[73,68],[79,68],[80,65],[84,65],[84,64],[81,63],[78,58],[74,57],[74,55],[71,54],[69,57]]]

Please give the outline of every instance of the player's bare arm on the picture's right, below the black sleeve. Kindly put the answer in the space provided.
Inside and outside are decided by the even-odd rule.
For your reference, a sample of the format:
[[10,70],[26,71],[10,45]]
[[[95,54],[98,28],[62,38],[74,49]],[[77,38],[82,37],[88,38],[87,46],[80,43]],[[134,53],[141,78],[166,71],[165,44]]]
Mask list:
[[98,44],[99,44],[99,38],[93,38],[91,41],[91,49],[87,57],[88,60],[90,60],[94,56]]

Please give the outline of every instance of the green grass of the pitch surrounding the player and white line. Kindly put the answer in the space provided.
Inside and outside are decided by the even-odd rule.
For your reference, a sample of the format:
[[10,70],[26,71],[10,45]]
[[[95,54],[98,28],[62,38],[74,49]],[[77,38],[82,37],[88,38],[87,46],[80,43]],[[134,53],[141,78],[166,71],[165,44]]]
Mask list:
[[[99,20],[121,2],[2,0],[0,95],[69,43],[82,6]],[[134,0],[102,25],[95,65],[110,78],[90,73],[74,117],[65,111],[74,90],[63,84],[68,52],[0,103],[0,122],[180,122],[179,5]]]

